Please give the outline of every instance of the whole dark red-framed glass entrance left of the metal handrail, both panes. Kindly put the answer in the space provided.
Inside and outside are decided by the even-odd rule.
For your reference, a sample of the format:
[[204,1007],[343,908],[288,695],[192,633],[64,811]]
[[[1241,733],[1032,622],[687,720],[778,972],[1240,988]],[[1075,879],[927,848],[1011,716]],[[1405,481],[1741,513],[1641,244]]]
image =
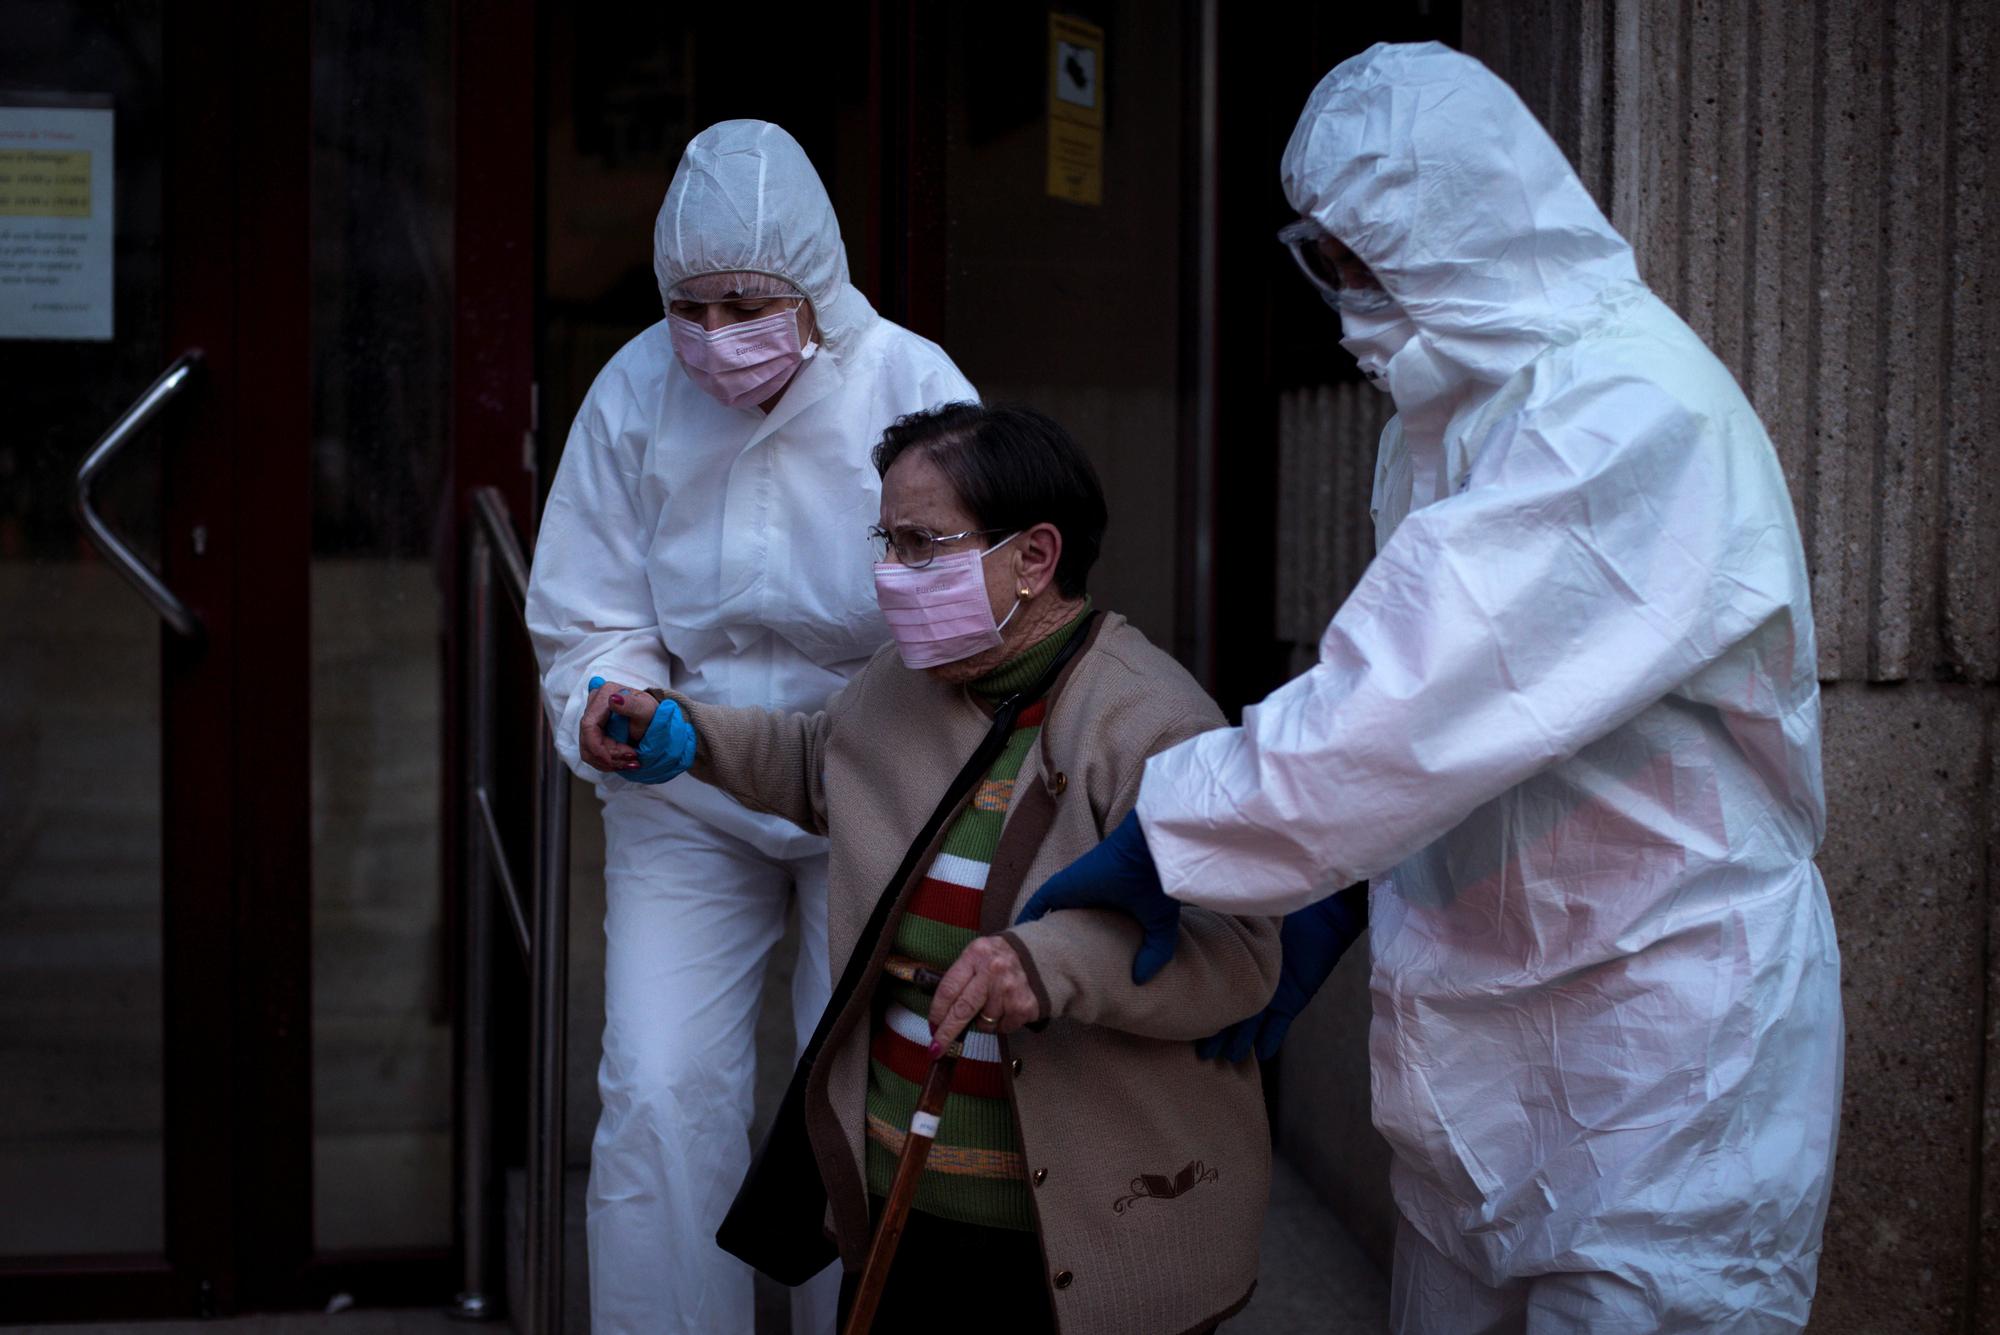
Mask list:
[[4,1321],[450,1295],[452,40],[0,48]]

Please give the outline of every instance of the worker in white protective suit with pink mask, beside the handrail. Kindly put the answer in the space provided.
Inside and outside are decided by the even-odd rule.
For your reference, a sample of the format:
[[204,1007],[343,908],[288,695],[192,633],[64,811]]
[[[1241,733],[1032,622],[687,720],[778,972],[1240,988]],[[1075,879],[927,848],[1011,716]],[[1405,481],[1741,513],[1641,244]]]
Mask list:
[[[644,751],[606,773],[606,711],[648,685],[822,707],[888,640],[870,450],[898,416],[974,390],[848,284],[832,202],[778,126],[730,120],[688,144],[654,270],[668,318],[576,414],[528,630],[556,745],[604,799],[592,1329],[714,1335],[754,1325],[750,1269],[714,1235],[750,1163],[760,981],[792,903],[800,1045],[830,993],[826,841],[704,783],[650,785]],[[832,1331],[838,1285],[834,1267],[794,1291],[794,1327]]]

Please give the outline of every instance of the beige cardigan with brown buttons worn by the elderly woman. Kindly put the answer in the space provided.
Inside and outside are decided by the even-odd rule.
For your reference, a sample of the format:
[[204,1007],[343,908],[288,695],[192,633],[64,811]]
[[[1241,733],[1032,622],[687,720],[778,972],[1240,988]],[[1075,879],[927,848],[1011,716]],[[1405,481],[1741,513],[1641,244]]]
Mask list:
[[[904,668],[894,648],[820,713],[672,697],[700,737],[696,777],[832,837],[826,925],[838,975],[990,717],[962,687]],[[984,921],[1014,943],[1050,1021],[1002,1039],[1044,1283],[1062,1331],[1206,1329],[1256,1283],[1270,1135],[1256,1063],[1200,1061],[1194,1039],[1270,999],[1278,923],[1188,907],[1174,961],[1144,987],[1132,983],[1140,931],[1122,913],[1070,909],[1012,927],[1050,873],[1132,809],[1148,755],[1222,723],[1180,664],[1110,614],[1048,699],[1014,783]],[[898,915],[934,853],[900,887]],[[892,917],[878,955],[894,935]],[[870,975],[880,977],[880,961]],[[836,1019],[806,1091],[830,1231],[848,1269],[860,1269],[870,1235],[870,993],[856,991]],[[966,1277],[976,1279],[976,1263]]]

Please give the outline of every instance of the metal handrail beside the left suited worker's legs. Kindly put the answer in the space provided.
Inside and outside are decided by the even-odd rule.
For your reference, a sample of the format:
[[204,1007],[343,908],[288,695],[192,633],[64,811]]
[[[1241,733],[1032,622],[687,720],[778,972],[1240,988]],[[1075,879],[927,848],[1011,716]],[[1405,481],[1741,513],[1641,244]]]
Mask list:
[[[464,781],[464,997],[460,1007],[458,1227],[464,1289],[452,1315],[502,1315],[498,1261],[504,1239],[500,1161],[494,1153],[494,899],[508,911],[528,967],[528,1201],[522,1335],[562,1329],[564,1061],[570,961],[570,773],[548,717],[536,709],[536,817],[530,899],[506,857],[494,819],[494,705],[498,683],[496,592],[526,630],[528,558],[494,488],[472,494],[466,590]],[[498,580],[494,578],[498,574]]]

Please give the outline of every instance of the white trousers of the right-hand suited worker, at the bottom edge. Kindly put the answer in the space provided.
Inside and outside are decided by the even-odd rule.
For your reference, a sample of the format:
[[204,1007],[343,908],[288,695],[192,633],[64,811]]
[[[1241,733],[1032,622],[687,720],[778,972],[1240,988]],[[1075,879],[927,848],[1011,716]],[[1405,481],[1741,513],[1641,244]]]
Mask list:
[[1794,1293],[1782,1275],[1772,1279],[1770,1301],[1756,1301],[1742,1275],[1732,1275],[1730,1289],[1740,1303],[1718,1315],[1718,1285],[1706,1283],[1698,1265],[1674,1273],[1672,1247],[1664,1251],[1664,1273],[1646,1275],[1646,1287],[1610,1271],[1526,1275],[1494,1287],[1432,1247],[1408,1219],[1398,1219],[1388,1329],[1394,1335],[1776,1335],[1804,1329],[1790,1313],[1804,1311],[1812,1295]]

